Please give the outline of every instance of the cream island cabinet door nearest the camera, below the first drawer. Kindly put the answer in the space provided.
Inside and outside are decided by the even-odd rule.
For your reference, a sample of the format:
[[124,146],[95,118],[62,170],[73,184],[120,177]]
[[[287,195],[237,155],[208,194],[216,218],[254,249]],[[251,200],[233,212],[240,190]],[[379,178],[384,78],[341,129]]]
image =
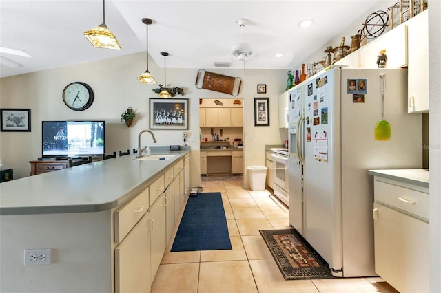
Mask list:
[[149,214],[115,248],[115,292],[150,292]]

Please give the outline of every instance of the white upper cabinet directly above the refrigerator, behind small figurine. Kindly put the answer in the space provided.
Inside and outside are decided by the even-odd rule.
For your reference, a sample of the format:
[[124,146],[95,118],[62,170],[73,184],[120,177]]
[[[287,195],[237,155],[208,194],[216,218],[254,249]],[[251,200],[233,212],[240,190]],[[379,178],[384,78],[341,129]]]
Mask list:
[[405,67],[407,65],[407,26],[398,25],[358,50],[362,68],[378,68],[377,56],[381,50],[386,50],[387,68]]

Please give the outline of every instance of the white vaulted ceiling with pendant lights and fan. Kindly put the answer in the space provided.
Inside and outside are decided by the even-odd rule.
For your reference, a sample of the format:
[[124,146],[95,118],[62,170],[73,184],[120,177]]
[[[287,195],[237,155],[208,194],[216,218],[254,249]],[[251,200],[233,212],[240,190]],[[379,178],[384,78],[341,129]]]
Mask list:
[[[145,17],[153,21],[148,28],[148,51],[160,67],[160,52],[169,52],[167,67],[209,69],[220,62],[242,68],[243,62],[232,58],[231,52],[242,42],[236,21],[245,18],[243,42],[254,52],[254,58],[245,61],[246,67],[292,69],[367,14],[376,2],[107,0],[105,23],[122,47],[107,50],[92,47],[83,35],[103,22],[101,0],[0,0],[0,46],[31,56],[0,53],[0,77],[145,52],[145,24],[141,22]],[[387,8],[394,1],[382,2]],[[298,23],[304,19],[314,19],[314,25],[300,28]],[[277,58],[278,53],[283,56]],[[14,63],[21,66],[10,67]]]

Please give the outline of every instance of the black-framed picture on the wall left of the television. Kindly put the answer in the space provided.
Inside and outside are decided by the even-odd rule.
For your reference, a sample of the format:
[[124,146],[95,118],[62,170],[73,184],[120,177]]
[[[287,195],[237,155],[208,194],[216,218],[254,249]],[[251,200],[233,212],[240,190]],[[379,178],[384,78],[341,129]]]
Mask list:
[[30,109],[0,109],[1,131],[30,131]]

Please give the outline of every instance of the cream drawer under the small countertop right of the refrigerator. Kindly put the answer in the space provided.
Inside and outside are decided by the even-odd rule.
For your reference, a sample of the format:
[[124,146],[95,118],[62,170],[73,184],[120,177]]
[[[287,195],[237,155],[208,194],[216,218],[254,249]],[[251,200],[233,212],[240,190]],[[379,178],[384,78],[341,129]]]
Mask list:
[[374,183],[375,201],[429,221],[429,194],[380,181]]

